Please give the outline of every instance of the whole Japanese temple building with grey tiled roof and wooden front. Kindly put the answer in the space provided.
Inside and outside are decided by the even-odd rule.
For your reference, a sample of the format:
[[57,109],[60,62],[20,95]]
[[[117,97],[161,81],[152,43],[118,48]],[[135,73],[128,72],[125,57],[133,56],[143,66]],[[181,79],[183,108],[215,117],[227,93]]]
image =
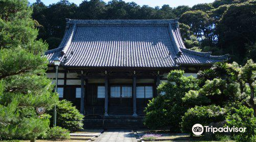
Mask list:
[[227,55],[186,49],[177,20],[67,19],[60,45],[45,55],[49,78],[55,79],[53,60],[61,61],[59,98],[72,101],[85,122],[99,127],[141,120],[170,70],[197,77],[200,69],[227,60]]

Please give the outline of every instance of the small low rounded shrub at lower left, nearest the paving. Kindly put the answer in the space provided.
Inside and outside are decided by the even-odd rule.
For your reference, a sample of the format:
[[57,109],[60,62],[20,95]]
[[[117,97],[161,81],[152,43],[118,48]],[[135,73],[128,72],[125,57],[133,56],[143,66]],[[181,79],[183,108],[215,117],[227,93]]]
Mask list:
[[47,131],[47,139],[65,140],[70,138],[69,130],[61,127],[52,127]]

